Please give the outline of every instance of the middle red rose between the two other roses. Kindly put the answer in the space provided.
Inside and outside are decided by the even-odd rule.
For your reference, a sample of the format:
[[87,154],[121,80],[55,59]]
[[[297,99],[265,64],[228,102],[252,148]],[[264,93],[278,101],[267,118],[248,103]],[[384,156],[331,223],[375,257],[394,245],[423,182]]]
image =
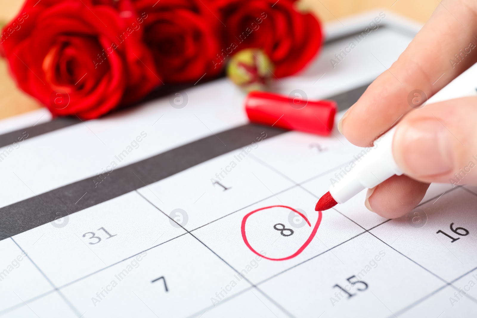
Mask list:
[[[204,2],[203,2],[204,1]],[[136,0],[145,12],[144,41],[165,82],[196,82],[221,70],[214,65],[219,49],[218,12],[206,0]],[[211,11],[212,10],[212,11]]]

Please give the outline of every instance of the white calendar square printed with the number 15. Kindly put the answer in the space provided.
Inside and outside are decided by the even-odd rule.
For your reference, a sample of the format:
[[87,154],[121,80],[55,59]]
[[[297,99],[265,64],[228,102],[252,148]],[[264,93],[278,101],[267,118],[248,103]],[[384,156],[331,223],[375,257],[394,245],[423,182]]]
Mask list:
[[422,267],[365,233],[259,288],[295,317],[364,318],[392,316],[441,285]]

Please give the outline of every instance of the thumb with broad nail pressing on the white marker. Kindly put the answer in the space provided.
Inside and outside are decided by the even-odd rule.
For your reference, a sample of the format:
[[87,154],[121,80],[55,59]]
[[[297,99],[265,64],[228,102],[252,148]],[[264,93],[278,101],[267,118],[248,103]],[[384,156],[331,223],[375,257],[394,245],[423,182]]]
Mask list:
[[393,155],[421,182],[477,185],[477,97],[426,105],[396,127]]

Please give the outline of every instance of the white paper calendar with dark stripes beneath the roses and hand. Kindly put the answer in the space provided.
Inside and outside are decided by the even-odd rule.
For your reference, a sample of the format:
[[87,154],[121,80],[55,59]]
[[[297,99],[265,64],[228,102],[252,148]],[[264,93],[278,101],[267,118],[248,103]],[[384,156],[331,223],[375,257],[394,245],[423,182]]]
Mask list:
[[[330,62],[379,13],[328,26],[316,61],[273,89],[337,101],[337,122],[418,30],[385,12]],[[428,103],[475,94],[476,75]],[[365,192],[314,211],[362,149],[336,125],[249,123],[244,98],[218,79],[97,120],[1,121],[0,317],[477,315],[477,187],[433,184],[392,220]]]

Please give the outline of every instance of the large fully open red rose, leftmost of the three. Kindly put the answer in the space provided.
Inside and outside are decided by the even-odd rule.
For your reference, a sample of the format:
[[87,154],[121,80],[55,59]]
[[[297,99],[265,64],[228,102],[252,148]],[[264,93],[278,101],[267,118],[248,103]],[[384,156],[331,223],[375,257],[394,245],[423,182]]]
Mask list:
[[159,82],[141,42],[144,18],[127,0],[117,8],[91,0],[27,0],[2,30],[3,52],[21,89],[53,114],[96,118]]

